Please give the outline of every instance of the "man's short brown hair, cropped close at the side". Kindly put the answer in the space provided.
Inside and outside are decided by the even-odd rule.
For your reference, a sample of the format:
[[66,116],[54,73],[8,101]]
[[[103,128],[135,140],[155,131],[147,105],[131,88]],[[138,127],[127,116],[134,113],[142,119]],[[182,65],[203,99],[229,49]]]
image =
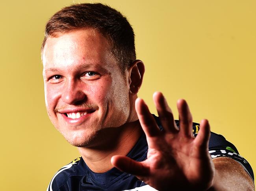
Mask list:
[[134,31],[126,17],[108,5],[74,4],[55,13],[46,24],[41,51],[48,37],[85,27],[100,31],[108,39],[111,52],[124,73],[136,59]]

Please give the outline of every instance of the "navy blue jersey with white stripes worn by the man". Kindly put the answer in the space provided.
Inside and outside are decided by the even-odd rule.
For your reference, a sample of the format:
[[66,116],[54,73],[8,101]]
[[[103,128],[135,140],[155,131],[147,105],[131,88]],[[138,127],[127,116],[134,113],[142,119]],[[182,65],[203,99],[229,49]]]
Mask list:
[[[156,122],[162,129],[159,118]],[[176,120],[177,126],[179,122]],[[200,127],[193,123],[193,134],[197,136]],[[147,159],[148,145],[146,136],[143,133],[128,157],[143,161]],[[212,158],[224,156],[230,157],[239,162],[254,180],[250,164],[239,155],[236,147],[228,142],[222,135],[211,132],[209,142],[209,153]],[[87,167],[82,157],[76,158],[68,165],[63,166],[52,178],[47,191],[156,191],[146,185],[137,177],[123,173],[115,167],[106,173],[94,173]]]

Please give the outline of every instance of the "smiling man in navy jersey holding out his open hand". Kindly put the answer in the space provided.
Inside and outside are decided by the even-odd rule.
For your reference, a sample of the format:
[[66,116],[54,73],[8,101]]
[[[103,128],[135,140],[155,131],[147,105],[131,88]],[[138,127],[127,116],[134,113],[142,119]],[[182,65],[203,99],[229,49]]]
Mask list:
[[159,118],[137,98],[144,64],[132,27],[115,9],[78,4],[56,13],[46,24],[42,60],[50,120],[82,156],[47,190],[254,189],[248,162],[210,133],[207,120],[198,133],[185,100],[174,121],[160,92],[153,95]]

